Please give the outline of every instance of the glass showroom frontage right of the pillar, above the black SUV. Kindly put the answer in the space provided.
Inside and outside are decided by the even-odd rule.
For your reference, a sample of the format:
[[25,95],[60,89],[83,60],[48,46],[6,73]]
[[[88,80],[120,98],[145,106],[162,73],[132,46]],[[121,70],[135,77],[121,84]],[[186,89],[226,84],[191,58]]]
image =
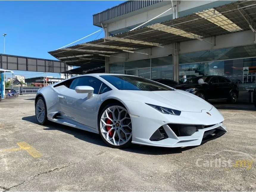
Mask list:
[[[256,82],[256,45],[179,55],[179,80],[201,75],[221,75],[237,83]],[[249,73],[244,73],[249,67]]]

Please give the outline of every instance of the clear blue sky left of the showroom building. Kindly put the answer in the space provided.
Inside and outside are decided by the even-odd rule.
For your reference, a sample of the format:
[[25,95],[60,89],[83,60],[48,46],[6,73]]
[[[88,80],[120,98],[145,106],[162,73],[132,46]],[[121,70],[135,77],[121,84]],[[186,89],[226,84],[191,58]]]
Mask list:
[[[0,33],[5,37],[5,54],[56,59],[48,51],[58,49],[101,28],[93,26],[93,14],[124,1],[0,1]],[[102,38],[96,33],[75,44]],[[98,36],[99,35],[99,36]],[[0,37],[0,52],[4,52]],[[14,71],[26,78],[43,76],[41,72]],[[10,73],[6,73],[11,77]],[[47,76],[59,77],[58,74]]]

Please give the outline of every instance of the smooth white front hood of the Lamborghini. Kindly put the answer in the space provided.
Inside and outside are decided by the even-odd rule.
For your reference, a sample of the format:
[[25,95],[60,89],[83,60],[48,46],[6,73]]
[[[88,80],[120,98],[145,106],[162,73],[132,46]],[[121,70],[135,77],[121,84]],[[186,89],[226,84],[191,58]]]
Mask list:
[[137,91],[125,90],[124,100],[142,101],[186,112],[202,112],[211,110],[212,105],[198,96],[183,90],[173,91]]

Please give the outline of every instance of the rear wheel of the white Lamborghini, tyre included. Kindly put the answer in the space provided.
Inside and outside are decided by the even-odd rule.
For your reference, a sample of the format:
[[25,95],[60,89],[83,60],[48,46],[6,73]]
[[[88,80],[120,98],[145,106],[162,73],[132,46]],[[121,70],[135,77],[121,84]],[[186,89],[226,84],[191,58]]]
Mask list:
[[35,104],[35,116],[38,124],[44,125],[47,122],[47,110],[43,97],[39,97]]

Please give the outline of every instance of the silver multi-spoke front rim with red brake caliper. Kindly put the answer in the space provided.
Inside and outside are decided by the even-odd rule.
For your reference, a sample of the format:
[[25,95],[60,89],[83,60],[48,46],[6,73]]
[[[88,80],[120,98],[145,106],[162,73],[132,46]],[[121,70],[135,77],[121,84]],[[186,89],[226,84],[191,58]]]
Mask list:
[[100,120],[100,131],[110,144],[121,146],[132,137],[132,122],[128,111],[121,106],[108,107]]

